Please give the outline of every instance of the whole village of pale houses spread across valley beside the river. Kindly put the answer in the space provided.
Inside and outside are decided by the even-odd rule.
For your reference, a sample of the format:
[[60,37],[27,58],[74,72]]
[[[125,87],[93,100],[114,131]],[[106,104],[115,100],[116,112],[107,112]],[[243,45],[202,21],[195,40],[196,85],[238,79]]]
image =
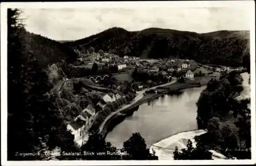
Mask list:
[[[170,86],[176,80],[179,84],[184,84],[185,82],[199,85],[207,84],[211,78],[218,79],[222,72],[244,70],[242,67],[231,68],[226,66],[203,65],[194,60],[171,58],[143,60],[138,57],[128,56],[120,58],[115,54],[104,53],[103,51],[88,52],[84,56],[80,51],[75,51],[79,54],[78,67],[92,69],[93,65],[97,64],[98,70],[106,66],[109,68],[115,66],[117,68],[116,75],[112,75],[112,78],[109,76],[106,77],[106,79],[111,80],[112,83],[110,85],[104,84],[105,79],[102,79],[102,77],[100,77],[101,79],[93,79],[93,77],[83,79],[86,87],[81,89],[83,93],[77,94],[76,96],[94,96],[95,102],[84,107],[81,113],[67,126],[67,129],[74,135],[74,141],[78,146],[86,143],[90,128],[95,123],[99,126],[104,121],[104,118],[127,104],[136,103],[143,96],[144,98],[150,99],[151,96],[147,96],[146,94],[148,94],[147,91],[151,87],[159,85]],[[69,80],[66,84],[70,84]],[[102,90],[106,91],[102,92]],[[154,91],[154,93],[157,92],[160,93],[163,90],[158,89]]]

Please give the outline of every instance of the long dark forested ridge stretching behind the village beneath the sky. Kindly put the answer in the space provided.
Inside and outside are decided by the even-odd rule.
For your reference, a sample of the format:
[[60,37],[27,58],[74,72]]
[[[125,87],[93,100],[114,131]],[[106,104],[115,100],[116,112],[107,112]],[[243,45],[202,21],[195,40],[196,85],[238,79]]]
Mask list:
[[125,54],[142,58],[177,57],[229,66],[246,66],[246,61],[248,65],[248,43],[248,31],[198,34],[155,27],[135,32],[113,27],[87,38],[66,42],[77,49],[92,46],[96,51],[102,49],[121,57]]

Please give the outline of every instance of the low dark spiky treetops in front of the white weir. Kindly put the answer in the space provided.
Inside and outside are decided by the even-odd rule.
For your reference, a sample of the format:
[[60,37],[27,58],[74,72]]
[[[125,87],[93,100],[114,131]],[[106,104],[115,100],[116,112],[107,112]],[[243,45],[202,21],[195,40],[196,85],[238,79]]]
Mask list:
[[211,160],[212,153],[205,149],[200,143],[197,143],[196,147],[193,147],[192,142],[188,140],[187,148],[182,149],[179,152],[178,148],[175,148],[174,159],[175,160]]

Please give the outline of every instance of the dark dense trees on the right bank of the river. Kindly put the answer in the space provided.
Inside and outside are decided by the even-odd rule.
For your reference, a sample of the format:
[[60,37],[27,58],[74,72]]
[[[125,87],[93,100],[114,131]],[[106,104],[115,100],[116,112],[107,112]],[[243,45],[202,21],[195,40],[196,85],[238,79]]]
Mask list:
[[[227,157],[251,158],[250,98],[238,99],[243,78],[235,71],[212,79],[197,102],[198,126],[208,132],[200,136],[208,148]],[[247,81],[247,80],[246,80]]]

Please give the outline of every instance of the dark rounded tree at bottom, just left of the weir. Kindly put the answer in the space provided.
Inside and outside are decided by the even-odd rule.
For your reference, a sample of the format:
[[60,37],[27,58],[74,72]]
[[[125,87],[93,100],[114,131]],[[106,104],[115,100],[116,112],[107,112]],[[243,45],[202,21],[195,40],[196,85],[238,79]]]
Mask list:
[[126,160],[158,160],[155,154],[151,154],[146,148],[146,143],[140,133],[133,133],[129,140],[123,143],[123,152],[127,155],[123,156]]

